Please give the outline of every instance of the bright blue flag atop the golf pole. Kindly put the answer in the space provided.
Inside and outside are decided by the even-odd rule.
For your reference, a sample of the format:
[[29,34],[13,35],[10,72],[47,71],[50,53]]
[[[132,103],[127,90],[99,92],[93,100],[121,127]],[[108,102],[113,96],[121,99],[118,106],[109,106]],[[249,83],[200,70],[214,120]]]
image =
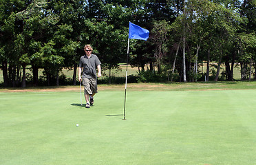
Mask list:
[[140,39],[147,41],[147,39],[149,39],[149,30],[140,28],[140,26],[129,22],[129,39]]

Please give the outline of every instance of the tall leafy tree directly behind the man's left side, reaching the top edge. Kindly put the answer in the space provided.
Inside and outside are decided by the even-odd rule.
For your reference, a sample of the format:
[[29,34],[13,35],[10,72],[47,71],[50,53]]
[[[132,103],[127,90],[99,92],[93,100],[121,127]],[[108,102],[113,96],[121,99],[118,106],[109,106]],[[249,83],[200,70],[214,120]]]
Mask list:
[[[54,14],[58,15],[58,28],[55,30],[54,49],[56,54],[64,57],[63,66],[74,69],[72,83],[76,85],[76,69],[78,61],[83,54],[82,34],[87,30],[84,19],[88,17],[85,1],[50,1],[49,6]],[[58,76],[58,74],[57,74]]]

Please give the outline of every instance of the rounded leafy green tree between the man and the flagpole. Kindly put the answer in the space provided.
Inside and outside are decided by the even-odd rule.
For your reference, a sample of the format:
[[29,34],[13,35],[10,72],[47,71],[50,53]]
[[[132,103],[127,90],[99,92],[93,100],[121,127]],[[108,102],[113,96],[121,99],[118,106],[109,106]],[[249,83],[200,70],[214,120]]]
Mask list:
[[125,30],[115,30],[113,25],[105,21],[88,22],[89,32],[93,34],[94,52],[98,54],[103,69],[109,69],[109,83],[111,83],[111,69],[118,68],[123,56],[125,56],[126,34]]

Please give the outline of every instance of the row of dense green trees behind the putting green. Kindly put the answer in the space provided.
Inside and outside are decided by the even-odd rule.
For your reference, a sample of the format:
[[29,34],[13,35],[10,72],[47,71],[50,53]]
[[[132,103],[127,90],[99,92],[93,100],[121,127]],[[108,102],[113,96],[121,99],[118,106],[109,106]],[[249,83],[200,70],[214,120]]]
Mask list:
[[[110,77],[111,69],[126,62],[129,21],[150,31],[148,41],[130,40],[129,64],[138,67],[139,76],[186,82],[202,76],[208,81],[211,75],[217,81],[222,75],[233,80],[236,65],[242,80],[255,74],[255,0],[0,2],[0,65],[6,87],[25,87],[29,78],[34,85],[41,79],[58,85],[64,68],[73,70],[75,85],[87,43]],[[198,69],[202,63],[204,75]],[[217,71],[210,69],[213,63]]]

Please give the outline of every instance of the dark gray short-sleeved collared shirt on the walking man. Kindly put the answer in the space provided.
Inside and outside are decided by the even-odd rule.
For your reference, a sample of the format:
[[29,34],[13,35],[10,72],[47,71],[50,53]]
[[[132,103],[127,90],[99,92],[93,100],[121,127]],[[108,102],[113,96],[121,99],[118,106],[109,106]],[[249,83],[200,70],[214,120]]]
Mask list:
[[86,55],[81,56],[79,67],[83,67],[82,78],[96,78],[96,68],[100,64],[100,60],[95,54],[91,54],[90,58]]

